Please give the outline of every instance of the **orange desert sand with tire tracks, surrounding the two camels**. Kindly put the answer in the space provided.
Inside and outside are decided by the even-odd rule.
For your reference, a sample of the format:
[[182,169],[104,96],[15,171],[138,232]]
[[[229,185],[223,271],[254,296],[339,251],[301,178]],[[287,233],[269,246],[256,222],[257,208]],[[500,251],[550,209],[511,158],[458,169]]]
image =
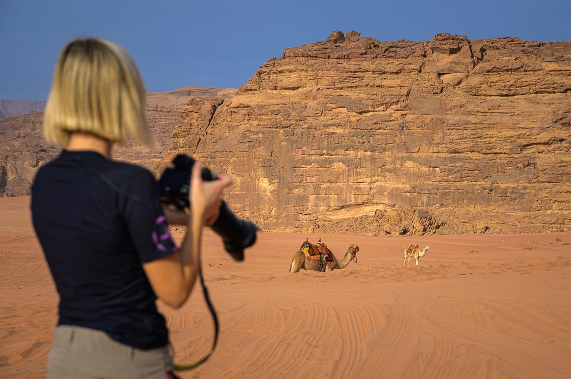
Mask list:
[[[179,239],[182,232],[174,231]],[[359,263],[288,274],[309,237]],[[410,242],[427,244],[403,268]],[[564,378],[571,373],[571,233],[367,237],[260,233],[234,262],[204,234],[218,347],[184,378]],[[0,199],[0,377],[45,373],[58,296],[30,223],[29,197]],[[166,314],[177,362],[210,349],[196,290]]]

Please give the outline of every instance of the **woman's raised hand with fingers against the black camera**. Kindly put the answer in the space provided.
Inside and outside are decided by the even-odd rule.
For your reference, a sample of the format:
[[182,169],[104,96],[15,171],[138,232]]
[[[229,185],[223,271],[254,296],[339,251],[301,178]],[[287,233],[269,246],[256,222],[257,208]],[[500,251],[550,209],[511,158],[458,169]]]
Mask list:
[[[191,217],[202,225],[212,225],[220,215],[220,206],[224,198],[224,189],[232,184],[232,179],[226,175],[218,175],[217,180],[202,180],[202,164],[195,162],[192,166],[190,184]],[[196,219],[198,218],[198,219]]]

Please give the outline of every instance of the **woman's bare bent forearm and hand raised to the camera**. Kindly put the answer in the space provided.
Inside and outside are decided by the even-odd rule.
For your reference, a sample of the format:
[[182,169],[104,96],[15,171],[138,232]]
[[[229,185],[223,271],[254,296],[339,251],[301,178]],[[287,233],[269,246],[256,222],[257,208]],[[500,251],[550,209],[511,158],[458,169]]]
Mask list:
[[143,264],[156,296],[174,308],[181,307],[191,294],[200,267],[202,227],[216,221],[223,190],[232,183],[224,175],[219,175],[218,180],[204,182],[200,177],[201,170],[198,162],[192,168],[191,215],[187,217],[188,229],[179,251]]

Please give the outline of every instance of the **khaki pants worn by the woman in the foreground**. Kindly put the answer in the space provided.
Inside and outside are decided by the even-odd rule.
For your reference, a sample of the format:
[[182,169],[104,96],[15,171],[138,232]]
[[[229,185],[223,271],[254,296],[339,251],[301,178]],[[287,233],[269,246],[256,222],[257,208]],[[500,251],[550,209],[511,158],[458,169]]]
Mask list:
[[47,378],[164,379],[172,369],[168,347],[141,350],[102,331],[61,325],[55,328]]

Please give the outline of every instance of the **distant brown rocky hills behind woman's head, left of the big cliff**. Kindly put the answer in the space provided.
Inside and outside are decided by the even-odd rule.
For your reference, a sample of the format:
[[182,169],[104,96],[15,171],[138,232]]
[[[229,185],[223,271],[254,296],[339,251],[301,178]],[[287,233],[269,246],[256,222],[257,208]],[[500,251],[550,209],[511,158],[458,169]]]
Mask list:
[[[180,112],[188,100],[195,96],[218,95],[219,92],[220,88],[210,87],[147,92],[147,121],[161,147],[150,150],[127,141],[125,146],[116,146],[114,157],[152,169],[170,147],[172,131],[182,121]],[[226,89],[223,93],[232,91]],[[59,148],[47,145],[44,140],[42,124],[42,112],[0,120],[0,197],[30,194],[30,184],[38,167],[59,154]]]

